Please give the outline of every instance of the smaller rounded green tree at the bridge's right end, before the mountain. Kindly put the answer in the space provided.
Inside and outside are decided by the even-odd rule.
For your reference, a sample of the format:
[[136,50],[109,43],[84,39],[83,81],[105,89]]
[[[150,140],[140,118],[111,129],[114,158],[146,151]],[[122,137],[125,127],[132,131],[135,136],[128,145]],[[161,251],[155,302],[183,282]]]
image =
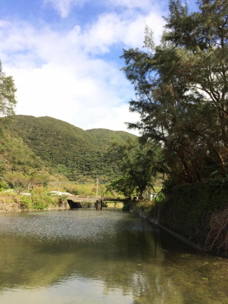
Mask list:
[[138,138],[113,141],[112,151],[123,177],[111,182],[109,186],[126,196],[136,190],[140,199],[146,188],[153,189],[157,172],[163,164],[160,144],[147,142],[141,145]]

